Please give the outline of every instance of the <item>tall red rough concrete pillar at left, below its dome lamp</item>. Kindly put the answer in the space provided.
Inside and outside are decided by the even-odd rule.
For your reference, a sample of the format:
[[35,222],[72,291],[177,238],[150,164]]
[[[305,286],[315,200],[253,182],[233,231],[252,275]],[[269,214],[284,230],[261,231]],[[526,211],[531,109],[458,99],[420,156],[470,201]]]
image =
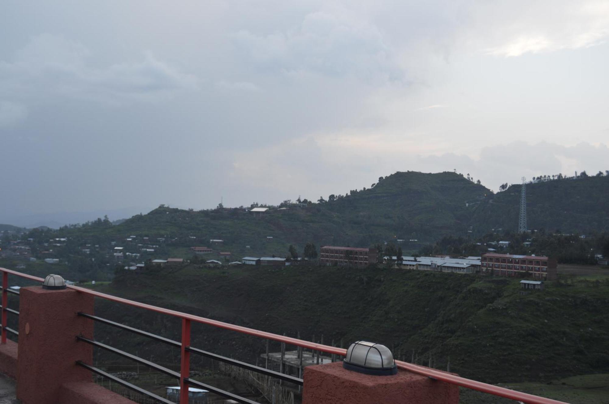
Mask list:
[[91,364],[93,347],[76,336],[93,339],[93,321],[76,313],[93,314],[93,296],[41,286],[19,292],[17,398],[23,404],[56,404],[63,383],[91,381],[91,372],[76,361]]

